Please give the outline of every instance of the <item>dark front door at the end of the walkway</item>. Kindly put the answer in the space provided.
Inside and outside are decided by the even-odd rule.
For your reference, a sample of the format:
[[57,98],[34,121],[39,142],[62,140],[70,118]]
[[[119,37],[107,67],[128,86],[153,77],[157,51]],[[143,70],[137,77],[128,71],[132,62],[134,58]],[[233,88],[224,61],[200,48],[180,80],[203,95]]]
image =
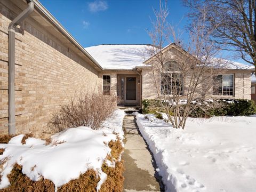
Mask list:
[[137,102],[137,78],[126,77],[125,102]]

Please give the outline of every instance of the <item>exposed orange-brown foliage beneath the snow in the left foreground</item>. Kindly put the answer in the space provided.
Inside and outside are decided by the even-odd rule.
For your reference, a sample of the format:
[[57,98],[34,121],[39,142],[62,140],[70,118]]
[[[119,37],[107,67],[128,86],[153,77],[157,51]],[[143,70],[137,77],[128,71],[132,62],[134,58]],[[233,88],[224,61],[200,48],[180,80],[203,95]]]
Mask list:
[[[107,174],[107,179],[102,183],[100,192],[107,191],[123,191],[123,161],[118,161],[117,158],[123,151],[122,142],[117,139],[110,141],[111,155],[109,159],[115,161],[115,167],[109,167],[106,163],[102,164],[102,171]],[[15,163],[9,175],[10,186],[1,189],[3,192],[11,191],[55,191],[54,183],[48,179],[41,177],[39,181],[30,180],[27,175],[22,173],[22,166]],[[100,177],[97,171],[89,169],[85,173],[81,173],[79,178],[70,180],[65,185],[58,187],[58,191],[97,191],[97,185]]]

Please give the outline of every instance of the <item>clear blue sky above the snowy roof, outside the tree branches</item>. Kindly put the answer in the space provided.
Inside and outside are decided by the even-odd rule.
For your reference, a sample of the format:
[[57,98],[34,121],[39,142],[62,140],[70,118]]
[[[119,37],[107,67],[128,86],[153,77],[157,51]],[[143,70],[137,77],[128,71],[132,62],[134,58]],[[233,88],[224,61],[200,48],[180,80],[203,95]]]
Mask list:
[[[39,0],[84,47],[99,44],[150,44],[158,0]],[[181,0],[169,0],[169,22],[183,30],[188,12]],[[186,39],[186,34],[184,36]],[[242,59],[239,62],[245,63]]]

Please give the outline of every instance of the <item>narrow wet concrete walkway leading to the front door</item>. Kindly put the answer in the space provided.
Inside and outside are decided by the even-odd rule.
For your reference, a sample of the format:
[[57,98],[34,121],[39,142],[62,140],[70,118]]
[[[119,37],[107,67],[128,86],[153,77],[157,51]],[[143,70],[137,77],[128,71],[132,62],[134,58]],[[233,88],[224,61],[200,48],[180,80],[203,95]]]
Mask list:
[[155,171],[154,157],[140,135],[134,116],[124,117],[123,130],[124,191],[164,191],[161,177]]

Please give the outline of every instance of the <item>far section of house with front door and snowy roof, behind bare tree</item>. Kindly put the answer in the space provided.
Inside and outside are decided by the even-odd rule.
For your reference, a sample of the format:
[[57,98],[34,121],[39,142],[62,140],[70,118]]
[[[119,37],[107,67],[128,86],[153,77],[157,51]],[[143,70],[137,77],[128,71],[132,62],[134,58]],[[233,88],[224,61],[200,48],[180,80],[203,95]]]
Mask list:
[[[121,105],[141,106],[143,99],[158,97],[155,83],[149,73],[149,46],[152,45],[98,45],[86,47],[92,57],[103,67],[102,89],[106,94],[116,94],[121,99]],[[164,51],[170,54],[170,61],[175,58],[177,45],[166,46]],[[168,62],[168,61],[166,61]],[[251,99],[251,72],[253,66],[238,62],[228,62],[221,78],[221,89],[211,92],[208,97],[213,99]],[[184,84],[186,82],[183,82]],[[161,79],[159,89],[161,90]]]

